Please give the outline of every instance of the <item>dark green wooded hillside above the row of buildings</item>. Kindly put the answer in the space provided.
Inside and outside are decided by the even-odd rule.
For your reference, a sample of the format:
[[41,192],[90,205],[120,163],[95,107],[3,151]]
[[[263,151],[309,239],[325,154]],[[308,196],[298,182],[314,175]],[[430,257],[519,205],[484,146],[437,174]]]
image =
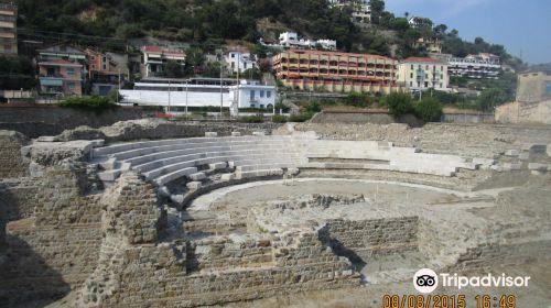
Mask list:
[[387,12],[382,0],[371,0],[374,25],[366,30],[350,21],[348,11],[329,8],[326,0],[19,0],[18,4],[23,35],[111,50],[142,36],[203,46],[219,46],[226,40],[256,43],[264,35],[274,36],[267,31],[289,29],[312,38],[336,40],[342,51],[398,58],[424,55],[412,43],[421,36],[439,37],[445,53],[490,52],[519,65],[504,46],[480,37],[465,42],[444,24],[410,29],[407,16]]

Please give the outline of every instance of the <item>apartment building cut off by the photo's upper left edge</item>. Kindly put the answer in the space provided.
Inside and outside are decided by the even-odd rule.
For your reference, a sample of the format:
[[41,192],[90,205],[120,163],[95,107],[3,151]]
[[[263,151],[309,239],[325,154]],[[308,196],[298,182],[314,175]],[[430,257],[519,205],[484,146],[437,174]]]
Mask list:
[[18,54],[18,7],[0,3],[0,54]]

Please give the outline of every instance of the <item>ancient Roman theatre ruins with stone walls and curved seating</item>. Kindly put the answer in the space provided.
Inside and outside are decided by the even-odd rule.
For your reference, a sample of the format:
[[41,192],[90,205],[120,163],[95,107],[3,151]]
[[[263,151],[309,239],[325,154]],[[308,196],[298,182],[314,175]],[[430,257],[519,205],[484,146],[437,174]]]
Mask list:
[[551,128],[0,131],[0,227],[1,307],[383,307],[431,268],[547,308]]

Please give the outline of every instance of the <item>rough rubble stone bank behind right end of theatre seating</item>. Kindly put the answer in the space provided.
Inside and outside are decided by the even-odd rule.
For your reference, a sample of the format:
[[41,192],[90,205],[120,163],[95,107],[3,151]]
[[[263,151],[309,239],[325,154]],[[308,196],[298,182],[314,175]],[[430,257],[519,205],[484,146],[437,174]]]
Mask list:
[[315,131],[322,139],[388,141],[396,146],[418,147],[434,154],[487,158],[510,148],[520,148],[526,143],[551,144],[549,127],[429,123],[410,129],[406,124],[301,123],[294,129]]

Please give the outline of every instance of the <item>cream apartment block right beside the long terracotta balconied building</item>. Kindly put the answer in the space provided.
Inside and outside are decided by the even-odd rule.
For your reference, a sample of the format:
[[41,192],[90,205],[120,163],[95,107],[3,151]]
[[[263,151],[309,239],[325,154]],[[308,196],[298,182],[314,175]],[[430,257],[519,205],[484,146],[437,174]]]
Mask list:
[[398,84],[411,91],[450,91],[446,62],[430,57],[410,57],[398,67]]

